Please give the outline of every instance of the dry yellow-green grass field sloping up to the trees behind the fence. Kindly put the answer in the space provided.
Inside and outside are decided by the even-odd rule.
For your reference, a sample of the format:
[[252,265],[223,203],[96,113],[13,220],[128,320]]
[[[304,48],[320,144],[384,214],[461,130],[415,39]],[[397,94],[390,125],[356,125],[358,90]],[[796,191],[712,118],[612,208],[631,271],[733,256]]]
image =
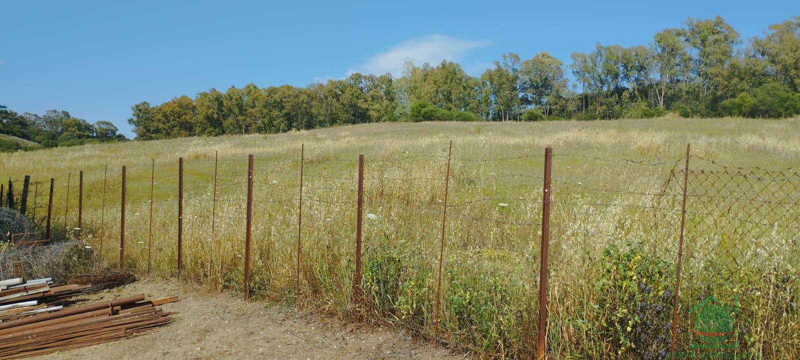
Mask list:
[[[535,354],[543,155],[550,146],[551,358],[666,358],[672,326],[678,326],[679,349],[690,349],[696,340],[690,307],[706,295],[724,302],[738,298],[734,338],[741,354],[800,356],[796,192],[781,193],[780,208],[687,211],[685,291],[678,323],[671,323],[686,144],[697,171],[726,171],[718,164],[797,169],[800,118],[365,124],[0,154],[0,176],[55,178],[54,238],[62,238],[75,236],[77,174],[84,170],[83,239],[102,261],[117,263],[126,166],[126,266],[140,274],[150,266],[153,276],[169,277],[176,274],[183,157],[180,277],[237,290],[243,278],[247,155],[254,154],[251,283],[257,298],[297,302],[342,318],[362,311],[368,322],[427,338],[433,334],[450,140],[439,334],[447,346],[485,358]],[[301,144],[306,161],[297,289]],[[350,302],[358,154],[366,158],[362,309]],[[786,183],[800,186],[796,178]],[[739,196],[735,191],[731,197]],[[730,220],[753,222],[751,213],[760,225]],[[726,225],[701,226],[710,219]],[[738,258],[722,256],[731,249]]]

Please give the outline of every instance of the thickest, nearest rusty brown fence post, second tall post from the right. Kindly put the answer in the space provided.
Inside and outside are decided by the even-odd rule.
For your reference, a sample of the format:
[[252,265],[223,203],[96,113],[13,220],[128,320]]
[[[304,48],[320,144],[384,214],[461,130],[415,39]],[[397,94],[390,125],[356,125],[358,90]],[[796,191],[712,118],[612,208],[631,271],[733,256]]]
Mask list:
[[542,187],[542,255],[539,259],[539,318],[536,338],[536,358],[546,358],[547,348],[547,255],[550,254],[550,174],[553,168],[553,149],[545,149],[545,174]]

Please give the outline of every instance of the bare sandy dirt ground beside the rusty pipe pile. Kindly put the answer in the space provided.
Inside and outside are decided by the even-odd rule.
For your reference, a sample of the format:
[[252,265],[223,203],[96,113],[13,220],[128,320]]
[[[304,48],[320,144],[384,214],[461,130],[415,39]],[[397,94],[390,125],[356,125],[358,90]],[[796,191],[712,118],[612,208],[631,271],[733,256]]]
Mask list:
[[359,327],[239,294],[209,293],[177,281],[135,282],[91,298],[145,293],[178,295],[165,304],[177,312],[170,326],[117,342],[48,354],[36,359],[462,359],[415,341],[400,330]]

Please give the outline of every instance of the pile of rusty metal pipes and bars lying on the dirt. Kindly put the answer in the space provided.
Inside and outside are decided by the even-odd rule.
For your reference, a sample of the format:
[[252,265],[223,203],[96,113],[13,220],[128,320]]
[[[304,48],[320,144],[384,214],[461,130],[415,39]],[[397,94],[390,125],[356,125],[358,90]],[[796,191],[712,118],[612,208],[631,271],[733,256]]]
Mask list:
[[[88,305],[63,305],[88,285],[54,285],[52,279],[0,281],[0,358],[26,358],[152,332],[174,321],[158,306],[174,296],[144,294]],[[54,305],[61,303],[60,305]]]

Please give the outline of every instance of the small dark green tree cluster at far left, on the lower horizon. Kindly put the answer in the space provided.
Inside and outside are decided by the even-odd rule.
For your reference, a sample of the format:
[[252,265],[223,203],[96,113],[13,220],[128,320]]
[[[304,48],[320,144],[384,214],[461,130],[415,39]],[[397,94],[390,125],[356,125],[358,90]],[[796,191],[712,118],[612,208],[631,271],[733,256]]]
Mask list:
[[18,141],[0,138],[0,151],[34,150],[40,147],[73,146],[97,142],[126,141],[118,134],[117,126],[99,121],[90,124],[74,118],[66,111],[47,110],[44,115],[18,114],[0,105],[0,134],[8,134],[36,146],[25,146]]

